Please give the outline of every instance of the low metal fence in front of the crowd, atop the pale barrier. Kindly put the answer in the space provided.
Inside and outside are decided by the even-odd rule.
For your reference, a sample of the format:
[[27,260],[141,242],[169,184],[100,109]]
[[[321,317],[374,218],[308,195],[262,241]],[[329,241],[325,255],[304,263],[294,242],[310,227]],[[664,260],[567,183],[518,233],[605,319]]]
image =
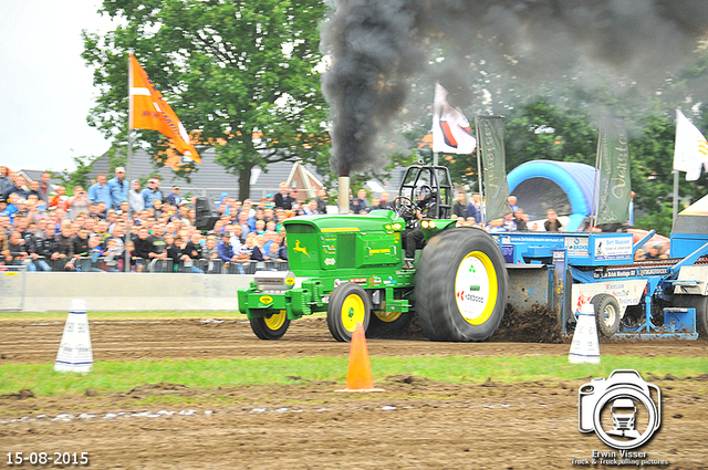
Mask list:
[[[113,259],[110,257],[85,257],[85,258],[72,258],[71,260],[50,260],[39,258],[33,261],[25,261],[18,264],[0,264],[0,273],[4,272],[10,275],[22,275],[24,279],[24,272],[123,272],[123,259]],[[133,258],[131,261],[132,272],[181,272],[181,273],[198,273],[198,274],[253,274],[257,271],[289,271],[290,265],[288,261],[237,261],[225,262],[220,259],[211,260],[191,260],[180,261],[174,263],[171,259],[153,259],[146,260],[143,258]],[[0,296],[2,291],[0,289]],[[21,306],[20,306],[21,307]],[[0,309],[2,305],[0,304]]]

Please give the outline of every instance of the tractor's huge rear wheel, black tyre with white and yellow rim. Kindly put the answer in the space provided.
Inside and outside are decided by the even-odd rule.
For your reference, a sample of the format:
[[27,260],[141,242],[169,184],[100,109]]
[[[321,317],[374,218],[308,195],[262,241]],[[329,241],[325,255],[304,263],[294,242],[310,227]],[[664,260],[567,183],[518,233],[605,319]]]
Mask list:
[[433,341],[489,340],[504,314],[508,282],[501,250],[489,233],[444,230],[428,241],[416,271],[423,332]]

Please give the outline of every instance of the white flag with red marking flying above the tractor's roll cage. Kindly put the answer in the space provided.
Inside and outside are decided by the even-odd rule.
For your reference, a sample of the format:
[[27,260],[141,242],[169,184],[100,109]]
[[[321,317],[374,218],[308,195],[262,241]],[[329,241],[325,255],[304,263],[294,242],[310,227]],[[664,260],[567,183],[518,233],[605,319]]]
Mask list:
[[433,152],[471,154],[477,146],[472,127],[462,112],[447,102],[448,92],[435,84],[435,112],[433,114]]

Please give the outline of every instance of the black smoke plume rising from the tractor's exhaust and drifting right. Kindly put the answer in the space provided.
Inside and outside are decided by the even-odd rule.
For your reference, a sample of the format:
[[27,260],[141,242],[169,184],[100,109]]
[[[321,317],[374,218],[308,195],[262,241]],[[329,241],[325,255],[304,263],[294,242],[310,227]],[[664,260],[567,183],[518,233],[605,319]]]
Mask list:
[[[322,30],[331,67],[332,168],[378,169],[377,143],[402,111],[410,81],[460,83],[479,67],[525,83],[584,64],[610,67],[637,88],[687,64],[708,28],[702,0],[335,0]],[[445,72],[431,64],[445,55]],[[469,93],[451,93],[469,101]],[[433,101],[433,96],[430,96]],[[460,104],[460,103],[458,103]],[[462,103],[464,104],[464,103]]]

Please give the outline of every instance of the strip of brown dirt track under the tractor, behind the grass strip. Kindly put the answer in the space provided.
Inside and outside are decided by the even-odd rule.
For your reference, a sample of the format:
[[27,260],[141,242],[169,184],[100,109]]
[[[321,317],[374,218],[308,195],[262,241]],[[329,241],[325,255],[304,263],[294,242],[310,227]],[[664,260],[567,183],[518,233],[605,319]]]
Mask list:
[[[38,323],[1,321],[2,363],[51,363],[56,357],[64,322]],[[248,320],[167,320],[91,322],[94,361],[139,361],[160,358],[298,357],[342,356],[348,344],[332,340],[326,321],[303,318],[292,322],[280,341],[258,340]],[[369,354],[395,356],[518,356],[566,355],[568,344],[508,342],[493,337],[488,343],[434,343],[420,334],[405,340],[368,340]],[[603,344],[603,354],[628,356],[704,357],[708,343],[699,341],[613,342]],[[1,364],[1,363],[0,363]],[[706,370],[708,372],[708,370]]]

